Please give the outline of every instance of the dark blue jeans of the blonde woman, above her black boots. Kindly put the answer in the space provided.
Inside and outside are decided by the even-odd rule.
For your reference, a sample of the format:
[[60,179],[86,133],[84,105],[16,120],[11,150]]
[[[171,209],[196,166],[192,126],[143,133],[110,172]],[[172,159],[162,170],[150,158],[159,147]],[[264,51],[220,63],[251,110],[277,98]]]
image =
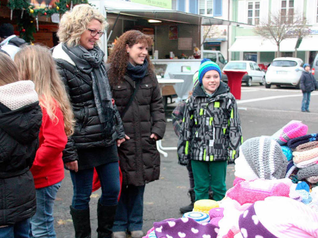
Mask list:
[[[101,205],[116,205],[120,191],[118,162],[103,164],[95,168],[101,185]],[[78,172],[70,171],[73,182],[72,207],[75,209],[87,209],[89,207],[93,186],[93,171],[94,168],[82,169]]]

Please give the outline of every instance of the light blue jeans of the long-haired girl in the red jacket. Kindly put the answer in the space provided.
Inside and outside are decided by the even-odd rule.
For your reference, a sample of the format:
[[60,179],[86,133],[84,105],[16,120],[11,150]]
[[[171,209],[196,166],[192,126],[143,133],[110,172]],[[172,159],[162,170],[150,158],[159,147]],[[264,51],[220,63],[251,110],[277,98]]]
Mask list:
[[53,207],[56,194],[61,182],[48,187],[35,189],[37,198],[37,211],[31,217],[30,237],[55,238]]

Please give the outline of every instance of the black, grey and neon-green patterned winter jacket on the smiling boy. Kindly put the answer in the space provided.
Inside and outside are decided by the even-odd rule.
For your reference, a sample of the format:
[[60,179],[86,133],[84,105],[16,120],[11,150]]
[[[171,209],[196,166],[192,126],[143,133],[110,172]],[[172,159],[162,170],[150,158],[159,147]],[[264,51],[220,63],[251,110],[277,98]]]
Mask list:
[[212,97],[197,85],[187,100],[178,141],[178,160],[233,163],[242,143],[239,113],[229,87],[220,82]]

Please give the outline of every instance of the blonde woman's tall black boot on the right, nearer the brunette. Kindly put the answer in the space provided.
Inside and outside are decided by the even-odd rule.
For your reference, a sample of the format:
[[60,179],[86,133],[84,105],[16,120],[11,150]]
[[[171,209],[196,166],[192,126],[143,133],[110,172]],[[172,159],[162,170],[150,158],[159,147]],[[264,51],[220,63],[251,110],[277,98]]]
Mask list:
[[117,205],[103,206],[98,200],[97,204],[97,220],[98,220],[98,238],[111,238],[114,217],[116,214]]

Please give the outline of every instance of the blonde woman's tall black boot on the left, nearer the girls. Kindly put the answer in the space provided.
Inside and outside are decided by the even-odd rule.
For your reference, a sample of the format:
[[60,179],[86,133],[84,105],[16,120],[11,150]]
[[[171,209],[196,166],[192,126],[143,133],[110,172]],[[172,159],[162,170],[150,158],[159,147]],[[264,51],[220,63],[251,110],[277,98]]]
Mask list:
[[70,206],[73,225],[75,229],[75,238],[91,238],[91,223],[89,220],[89,208],[75,209]]

